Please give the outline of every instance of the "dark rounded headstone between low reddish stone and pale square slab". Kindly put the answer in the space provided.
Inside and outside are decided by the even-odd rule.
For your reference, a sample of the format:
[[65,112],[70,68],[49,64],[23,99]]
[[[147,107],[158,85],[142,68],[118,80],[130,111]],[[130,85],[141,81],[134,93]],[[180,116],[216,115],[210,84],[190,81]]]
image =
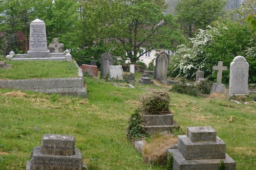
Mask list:
[[101,56],[101,70],[100,70],[100,78],[104,79],[106,75],[109,74],[109,66],[114,65],[114,59],[110,53],[104,53]]

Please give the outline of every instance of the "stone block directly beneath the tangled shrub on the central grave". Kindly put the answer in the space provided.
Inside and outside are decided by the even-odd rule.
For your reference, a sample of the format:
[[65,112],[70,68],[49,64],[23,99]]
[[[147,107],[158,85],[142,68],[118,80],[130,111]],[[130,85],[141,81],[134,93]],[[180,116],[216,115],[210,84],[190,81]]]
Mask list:
[[144,114],[143,123],[147,126],[173,125],[173,114]]

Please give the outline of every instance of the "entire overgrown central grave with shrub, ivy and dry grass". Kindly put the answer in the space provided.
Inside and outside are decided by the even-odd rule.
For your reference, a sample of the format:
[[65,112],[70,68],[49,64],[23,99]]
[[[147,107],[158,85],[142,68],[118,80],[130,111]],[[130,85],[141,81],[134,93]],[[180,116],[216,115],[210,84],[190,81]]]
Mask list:
[[[133,142],[135,148],[142,153],[146,162],[161,164],[167,160],[166,150],[175,144],[173,132],[179,130],[178,124],[173,119],[173,114],[169,110],[170,93],[166,90],[152,90],[143,93],[139,100],[141,105],[135,110],[129,119],[126,129],[127,137]],[[159,135],[160,134],[160,135]],[[161,145],[161,154],[144,150],[145,139],[153,136],[168,136],[166,140],[172,140]],[[161,142],[158,142],[161,143]],[[152,148],[152,147],[150,147]],[[156,155],[154,155],[156,154]]]

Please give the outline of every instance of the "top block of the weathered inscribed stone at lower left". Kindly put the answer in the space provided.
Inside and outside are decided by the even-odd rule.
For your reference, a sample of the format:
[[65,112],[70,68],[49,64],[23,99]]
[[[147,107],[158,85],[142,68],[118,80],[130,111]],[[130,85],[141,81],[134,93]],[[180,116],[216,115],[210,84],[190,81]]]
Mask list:
[[75,139],[70,135],[46,134],[42,137],[41,153],[70,156],[75,154]]

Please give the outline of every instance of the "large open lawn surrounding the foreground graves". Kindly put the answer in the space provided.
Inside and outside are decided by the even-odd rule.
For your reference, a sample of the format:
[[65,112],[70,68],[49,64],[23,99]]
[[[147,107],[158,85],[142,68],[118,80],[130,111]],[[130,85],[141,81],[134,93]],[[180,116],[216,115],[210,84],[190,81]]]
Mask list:
[[[125,133],[140,94],[161,86],[136,83],[135,88],[124,88],[91,78],[85,83],[88,99],[0,89],[0,169],[26,169],[44,134],[73,135],[89,169],[166,169],[143,163]],[[180,134],[188,126],[211,126],[226,143],[237,169],[253,169],[256,104],[248,102],[238,105],[221,95],[195,98],[171,93],[170,110]]]

